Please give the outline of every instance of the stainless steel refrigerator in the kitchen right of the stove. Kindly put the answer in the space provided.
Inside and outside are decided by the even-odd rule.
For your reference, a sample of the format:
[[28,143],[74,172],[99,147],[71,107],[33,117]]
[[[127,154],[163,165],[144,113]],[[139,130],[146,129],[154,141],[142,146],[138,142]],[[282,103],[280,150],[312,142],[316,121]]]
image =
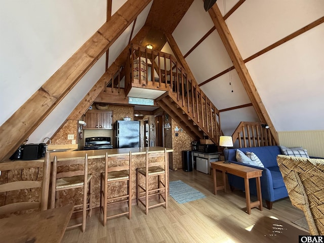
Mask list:
[[117,120],[114,130],[116,148],[140,147],[140,121]]

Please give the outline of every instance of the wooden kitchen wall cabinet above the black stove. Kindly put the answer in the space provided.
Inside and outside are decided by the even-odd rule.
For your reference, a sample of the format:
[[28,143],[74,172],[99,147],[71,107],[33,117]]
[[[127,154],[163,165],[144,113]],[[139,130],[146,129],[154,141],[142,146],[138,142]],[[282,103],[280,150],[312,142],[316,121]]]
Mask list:
[[85,129],[112,129],[111,110],[88,110],[84,118]]

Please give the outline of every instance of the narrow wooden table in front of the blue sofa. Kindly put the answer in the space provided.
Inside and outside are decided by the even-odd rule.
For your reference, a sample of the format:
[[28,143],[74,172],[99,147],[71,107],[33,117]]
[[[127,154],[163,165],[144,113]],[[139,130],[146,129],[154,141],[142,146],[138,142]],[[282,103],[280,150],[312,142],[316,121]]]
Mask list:
[[[262,170],[255,169],[252,167],[248,166],[243,166],[243,165],[237,165],[237,164],[224,164],[224,161],[217,161],[217,162],[212,162],[211,167],[213,170],[213,177],[214,177],[214,189],[215,192],[214,194],[217,194],[218,190],[224,189],[225,192],[225,185],[226,185],[226,174],[229,173],[235,176],[239,176],[244,178],[245,182],[245,196],[247,200],[247,213],[251,214],[251,208],[258,207],[259,210],[262,211],[262,195],[261,195],[261,183],[260,183],[260,177],[262,176]],[[217,186],[216,182],[216,170],[222,172],[223,176],[223,185],[222,186]],[[258,200],[251,202],[250,198],[250,187],[249,187],[249,179],[251,178],[256,178],[257,182],[257,195],[258,195]]]

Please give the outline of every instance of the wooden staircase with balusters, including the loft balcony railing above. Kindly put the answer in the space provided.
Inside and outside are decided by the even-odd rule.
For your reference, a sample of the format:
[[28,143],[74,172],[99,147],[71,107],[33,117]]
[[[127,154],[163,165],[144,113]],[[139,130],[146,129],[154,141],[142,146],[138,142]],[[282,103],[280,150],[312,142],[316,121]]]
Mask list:
[[126,94],[133,87],[165,91],[155,102],[193,139],[209,138],[218,145],[219,111],[175,57],[132,45],[127,60]]

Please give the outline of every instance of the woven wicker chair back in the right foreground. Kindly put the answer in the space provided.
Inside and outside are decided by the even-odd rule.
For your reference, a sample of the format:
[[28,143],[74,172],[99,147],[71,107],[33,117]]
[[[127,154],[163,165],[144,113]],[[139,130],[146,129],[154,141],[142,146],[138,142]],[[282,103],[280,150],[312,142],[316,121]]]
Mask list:
[[324,234],[324,159],[278,155],[293,206],[304,211],[310,234]]

